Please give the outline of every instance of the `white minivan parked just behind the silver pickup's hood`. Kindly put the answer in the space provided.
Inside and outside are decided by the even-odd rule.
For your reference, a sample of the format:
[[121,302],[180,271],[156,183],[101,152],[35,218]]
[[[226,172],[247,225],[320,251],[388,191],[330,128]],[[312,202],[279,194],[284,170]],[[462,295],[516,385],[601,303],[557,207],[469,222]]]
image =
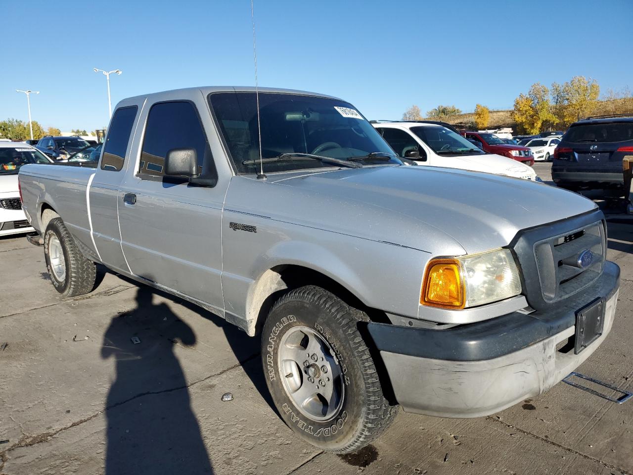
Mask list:
[[532,167],[475,148],[455,130],[437,122],[387,122],[373,124],[373,127],[398,156],[415,160],[418,165],[460,168],[536,180]]

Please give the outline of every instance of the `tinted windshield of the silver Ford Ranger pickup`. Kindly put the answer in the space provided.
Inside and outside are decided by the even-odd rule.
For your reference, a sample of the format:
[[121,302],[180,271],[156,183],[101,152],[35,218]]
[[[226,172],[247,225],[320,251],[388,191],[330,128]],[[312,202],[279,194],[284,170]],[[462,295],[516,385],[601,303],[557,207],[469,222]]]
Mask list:
[[[361,165],[402,163],[372,125],[346,102],[273,92],[260,92],[259,96],[261,157],[287,154],[283,160],[265,162],[265,173],[337,166],[334,161],[302,159],[302,153],[354,159]],[[209,102],[237,171],[258,172],[260,137],[255,93],[213,92]],[[372,155],[374,152],[380,153]]]

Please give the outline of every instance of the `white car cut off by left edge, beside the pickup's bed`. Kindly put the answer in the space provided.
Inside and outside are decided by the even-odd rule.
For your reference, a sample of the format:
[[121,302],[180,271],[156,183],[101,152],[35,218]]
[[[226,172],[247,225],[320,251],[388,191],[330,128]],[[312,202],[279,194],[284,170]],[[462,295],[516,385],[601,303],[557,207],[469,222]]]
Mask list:
[[18,172],[27,163],[52,162],[26,143],[0,142],[0,236],[34,231],[22,211]]

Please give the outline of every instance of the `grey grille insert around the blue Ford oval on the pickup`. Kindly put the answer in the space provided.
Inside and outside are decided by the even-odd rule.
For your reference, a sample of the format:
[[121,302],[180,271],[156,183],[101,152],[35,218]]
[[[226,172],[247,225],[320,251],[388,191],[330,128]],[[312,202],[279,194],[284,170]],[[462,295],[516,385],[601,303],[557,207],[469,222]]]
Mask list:
[[[593,259],[587,267],[577,262],[584,251]],[[534,244],[534,258],[542,298],[553,303],[573,295],[598,279],[605,265],[606,236],[601,221]]]

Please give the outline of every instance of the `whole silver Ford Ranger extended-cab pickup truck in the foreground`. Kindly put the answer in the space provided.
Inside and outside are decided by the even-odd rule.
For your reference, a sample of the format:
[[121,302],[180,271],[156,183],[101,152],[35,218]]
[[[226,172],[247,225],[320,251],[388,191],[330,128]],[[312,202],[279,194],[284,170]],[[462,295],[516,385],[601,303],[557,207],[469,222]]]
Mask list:
[[94,168],[26,165],[63,296],[96,264],[261,335],[272,399],[337,453],[398,406],[480,417],[539,395],[611,329],[620,270],[592,201],[404,166],[349,103],[201,87],[121,101]]

